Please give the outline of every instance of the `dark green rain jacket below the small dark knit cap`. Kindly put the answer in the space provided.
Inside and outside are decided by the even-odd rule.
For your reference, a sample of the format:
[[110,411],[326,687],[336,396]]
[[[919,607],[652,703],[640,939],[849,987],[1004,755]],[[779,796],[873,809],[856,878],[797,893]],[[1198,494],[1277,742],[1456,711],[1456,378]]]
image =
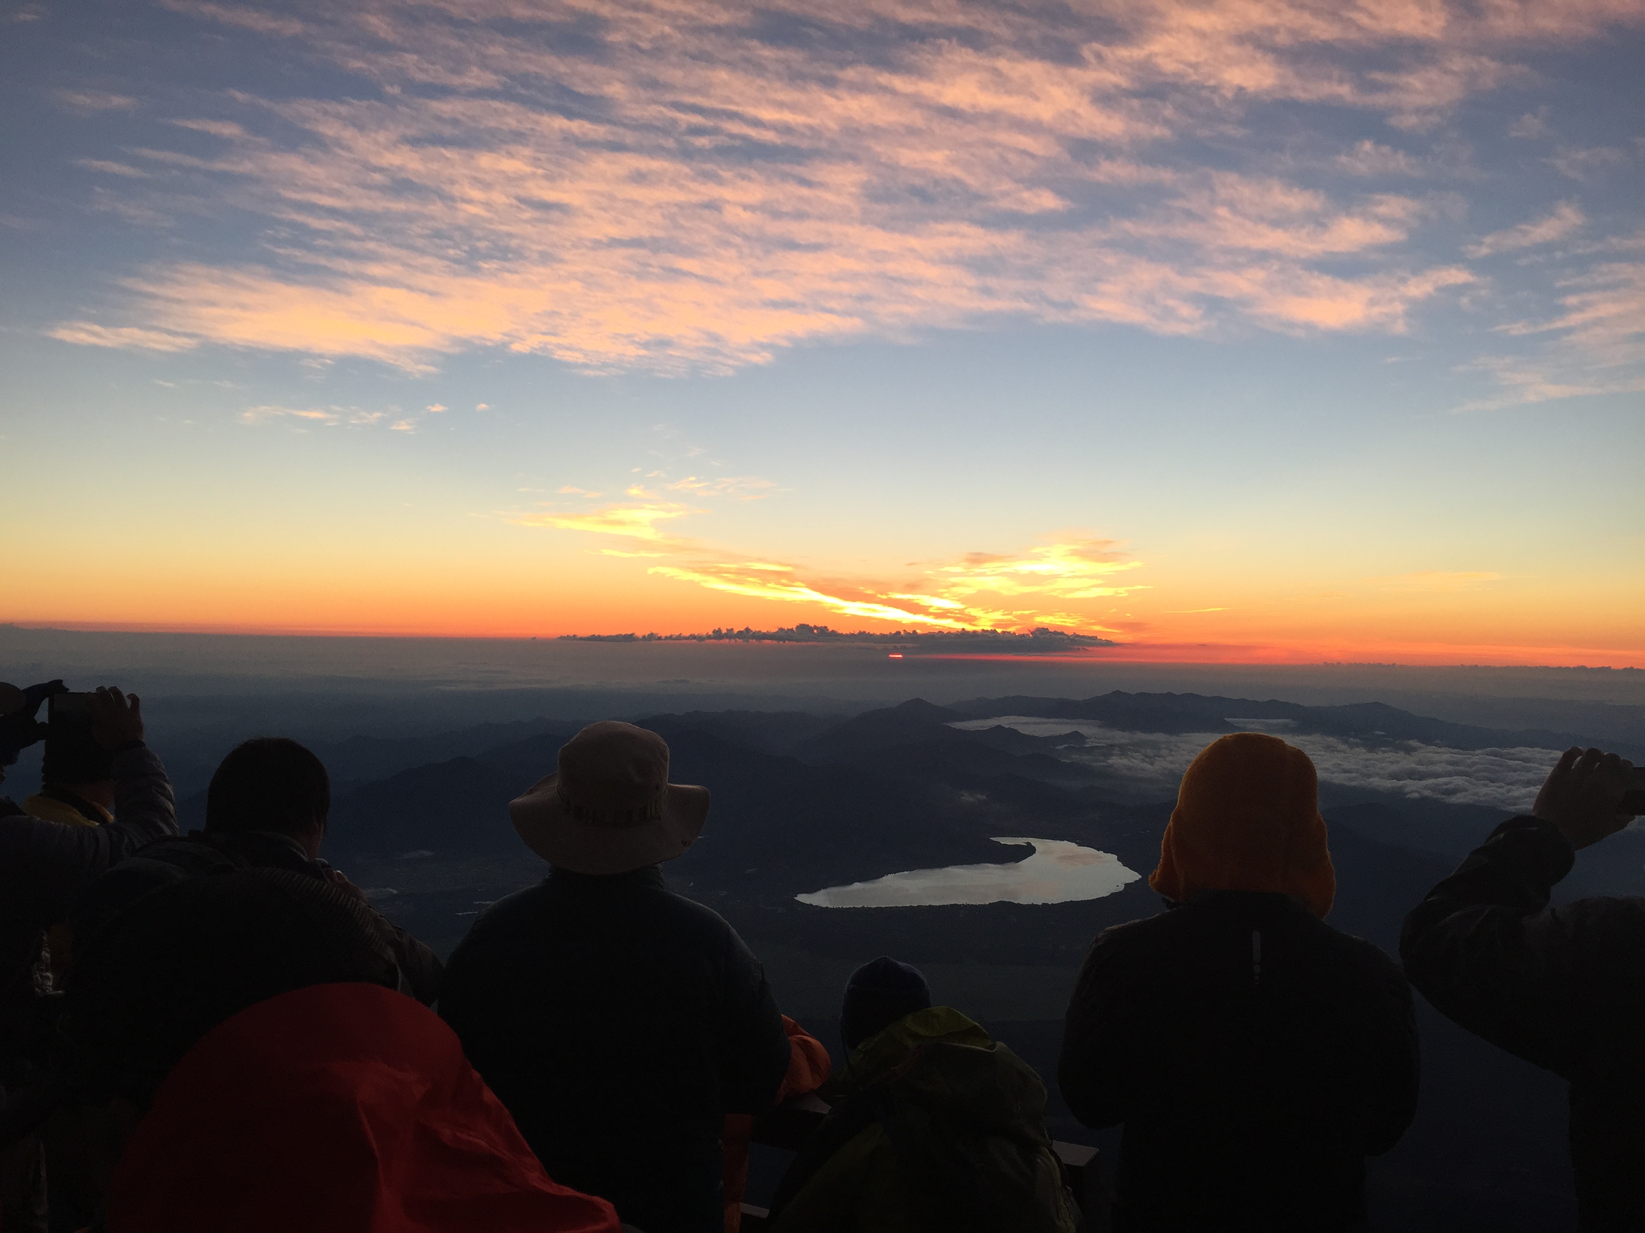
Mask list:
[[773,1233],[1074,1233],[1045,1083],[949,1006],[870,1036],[772,1200]]

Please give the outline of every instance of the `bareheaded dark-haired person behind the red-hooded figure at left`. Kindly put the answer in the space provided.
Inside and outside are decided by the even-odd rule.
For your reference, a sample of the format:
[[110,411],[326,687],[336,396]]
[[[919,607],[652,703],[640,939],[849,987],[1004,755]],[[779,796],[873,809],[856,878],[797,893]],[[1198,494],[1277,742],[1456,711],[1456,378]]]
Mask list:
[[[224,870],[286,870],[329,883],[365,904],[365,894],[319,858],[331,814],[331,776],[309,750],[283,737],[242,741],[206,789],[206,829],[164,838],[122,861],[86,896],[76,932],[158,886]],[[403,988],[423,1004],[439,995],[439,958],[400,926],[370,911],[400,963]]]

